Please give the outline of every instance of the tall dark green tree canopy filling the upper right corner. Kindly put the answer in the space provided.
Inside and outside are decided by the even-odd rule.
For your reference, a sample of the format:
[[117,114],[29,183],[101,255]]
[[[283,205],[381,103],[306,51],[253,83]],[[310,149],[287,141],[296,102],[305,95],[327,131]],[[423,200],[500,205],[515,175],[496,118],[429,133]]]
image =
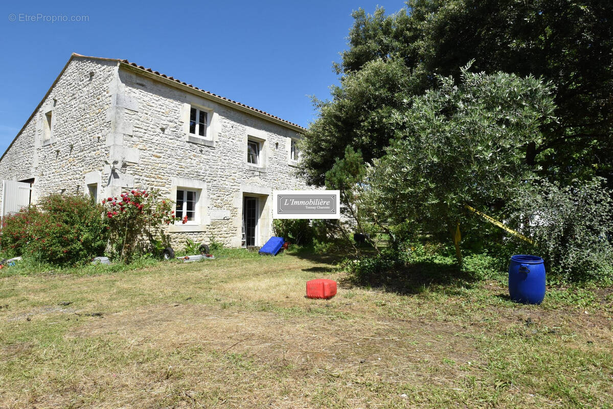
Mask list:
[[305,138],[305,176],[322,185],[345,147],[371,162],[406,134],[398,115],[436,75],[474,71],[543,77],[555,86],[558,121],[524,146],[525,161],[558,180],[600,175],[613,184],[613,2],[601,0],[411,0],[392,15],[354,12],[341,84],[317,101]]

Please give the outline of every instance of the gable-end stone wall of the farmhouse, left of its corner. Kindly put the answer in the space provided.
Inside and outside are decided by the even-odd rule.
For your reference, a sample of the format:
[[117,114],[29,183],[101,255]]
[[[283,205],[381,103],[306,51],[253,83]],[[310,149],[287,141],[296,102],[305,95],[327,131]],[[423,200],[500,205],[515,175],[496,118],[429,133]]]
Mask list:
[[[0,179],[34,178],[32,199],[36,202],[37,197],[50,193],[84,193],[84,175],[89,174],[91,181],[96,174],[101,194],[109,82],[117,69],[111,61],[72,58],[1,159]],[[48,112],[52,126],[45,135]]]

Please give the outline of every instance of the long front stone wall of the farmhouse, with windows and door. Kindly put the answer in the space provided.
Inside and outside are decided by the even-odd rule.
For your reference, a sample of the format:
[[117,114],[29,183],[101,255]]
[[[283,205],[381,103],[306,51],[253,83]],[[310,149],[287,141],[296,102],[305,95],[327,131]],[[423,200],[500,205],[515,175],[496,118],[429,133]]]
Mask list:
[[[161,189],[173,200],[180,187],[201,192],[197,223],[169,227],[174,245],[182,247],[186,237],[207,243],[213,237],[240,246],[243,194],[259,197],[258,244],[273,235],[272,191],[308,188],[289,164],[297,132],[127,69],[119,78],[126,99],[137,104],[122,113],[132,126],[123,145],[137,151],[126,169],[134,186]],[[206,139],[189,136],[192,106],[210,116]],[[261,167],[247,163],[248,137],[262,143]]]

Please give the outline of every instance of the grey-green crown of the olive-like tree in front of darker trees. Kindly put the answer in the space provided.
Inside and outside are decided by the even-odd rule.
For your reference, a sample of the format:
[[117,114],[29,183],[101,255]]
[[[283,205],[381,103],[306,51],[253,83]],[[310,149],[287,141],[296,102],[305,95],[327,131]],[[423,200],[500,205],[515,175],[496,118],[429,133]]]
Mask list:
[[[460,71],[398,114],[404,131],[366,173],[364,205],[379,223],[441,232],[465,205],[504,201],[534,174],[524,161],[555,123],[552,86],[534,77]],[[407,224],[409,223],[409,224]]]

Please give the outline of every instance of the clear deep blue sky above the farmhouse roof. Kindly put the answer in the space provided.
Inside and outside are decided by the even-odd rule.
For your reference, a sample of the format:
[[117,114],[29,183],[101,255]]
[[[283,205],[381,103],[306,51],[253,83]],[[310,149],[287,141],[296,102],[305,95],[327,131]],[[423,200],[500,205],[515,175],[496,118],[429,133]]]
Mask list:
[[[315,117],[308,96],[325,99],[337,83],[332,62],[347,47],[352,10],[377,5],[395,12],[403,2],[2,2],[0,152],[72,52],[125,58],[308,126]],[[36,21],[39,14],[89,21]]]

